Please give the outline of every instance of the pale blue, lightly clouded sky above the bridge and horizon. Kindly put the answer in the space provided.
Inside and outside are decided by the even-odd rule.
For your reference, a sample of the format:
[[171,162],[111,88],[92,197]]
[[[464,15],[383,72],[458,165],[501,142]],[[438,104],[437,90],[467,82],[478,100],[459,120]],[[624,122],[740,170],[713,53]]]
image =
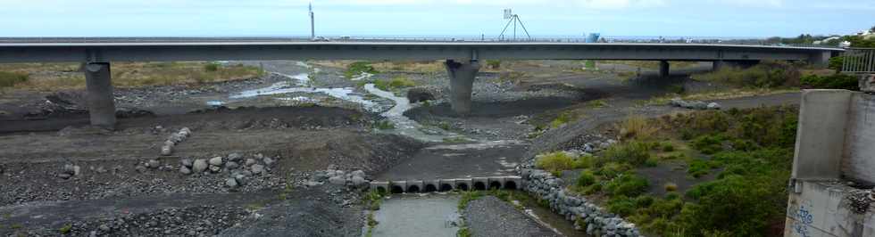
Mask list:
[[[84,4],[87,3],[87,4]],[[309,36],[298,0],[0,0],[0,37]],[[875,0],[313,0],[317,36],[794,37],[875,25]],[[521,31],[519,31],[521,34]]]

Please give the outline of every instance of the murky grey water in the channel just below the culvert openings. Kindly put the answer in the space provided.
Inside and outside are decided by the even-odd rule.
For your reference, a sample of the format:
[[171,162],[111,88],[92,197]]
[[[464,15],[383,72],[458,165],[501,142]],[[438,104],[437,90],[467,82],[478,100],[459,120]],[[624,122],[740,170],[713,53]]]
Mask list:
[[[453,194],[393,195],[383,200],[374,219],[379,223],[371,236],[446,236],[453,237],[459,228],[450,225],[459,218],[459,196]],[[364,226],[362,236],[368,230]]]

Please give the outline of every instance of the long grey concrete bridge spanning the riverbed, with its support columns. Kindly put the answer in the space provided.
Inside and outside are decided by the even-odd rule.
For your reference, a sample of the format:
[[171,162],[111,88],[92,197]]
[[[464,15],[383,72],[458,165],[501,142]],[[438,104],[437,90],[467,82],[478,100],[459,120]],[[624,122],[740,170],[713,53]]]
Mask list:
[[286,38],[0,38],[0,62],[86,62],[87,102],[91,124],[112,128],[115,106],[111,61],[246,61],[246,60],[446,60],[450,103],[455,112],[471,111],[471,86],[479,61],[496,60],[634,60],[712,61],[750,65],[762,60],[808,61],[825,67],[837,48],[661,43],[568,43],[503,41],[346,40],[312,42]]

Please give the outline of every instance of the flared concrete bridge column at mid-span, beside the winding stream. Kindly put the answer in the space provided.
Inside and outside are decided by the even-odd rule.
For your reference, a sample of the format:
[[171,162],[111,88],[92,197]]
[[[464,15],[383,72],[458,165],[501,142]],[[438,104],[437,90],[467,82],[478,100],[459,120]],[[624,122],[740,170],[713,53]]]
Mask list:
[[471,87],[480,64],[473,60],[470,63],[447,60],[444,65],[450,78],[450,105],[456,114],[468,115],[471,113]]

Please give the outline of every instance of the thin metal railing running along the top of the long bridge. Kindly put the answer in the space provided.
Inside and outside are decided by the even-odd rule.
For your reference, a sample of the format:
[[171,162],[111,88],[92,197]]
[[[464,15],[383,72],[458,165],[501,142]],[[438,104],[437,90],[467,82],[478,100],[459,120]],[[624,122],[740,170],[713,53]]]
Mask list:
[[[586,43],[586,37],[0,37],[0,43],[186,43],[186,42],[545,42],[545,43]],[[691,39],[677,37],[665,38],[622,38],[602,37],[600,42],[625,44],[712,44],[712,45],[768,45],[805,48],[837,48],[831,45],[784,45],[759,39]]]

